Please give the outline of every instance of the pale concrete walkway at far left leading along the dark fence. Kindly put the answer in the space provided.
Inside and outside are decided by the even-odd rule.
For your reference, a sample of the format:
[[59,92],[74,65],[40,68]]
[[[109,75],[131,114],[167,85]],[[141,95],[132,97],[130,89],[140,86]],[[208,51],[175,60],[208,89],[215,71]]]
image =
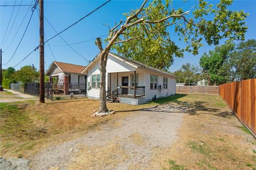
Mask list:
[[[4,91],[9,91],[12,94],[6,94]],[[21,92],[18,91],[13,91],[9,89],[4,89],[0,93],[0,103],[9,103],[9,102],[15,102],[15,101],[26,101],[26,100],[37,100],[38,97],[36,96],[31,96],[27,94],[22,94]]]

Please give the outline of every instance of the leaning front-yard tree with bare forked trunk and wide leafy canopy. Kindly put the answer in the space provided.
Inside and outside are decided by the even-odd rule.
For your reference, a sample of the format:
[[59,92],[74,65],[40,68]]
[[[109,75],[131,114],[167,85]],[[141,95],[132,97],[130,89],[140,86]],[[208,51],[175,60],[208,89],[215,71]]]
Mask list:
[[[209,45],[218,45],[223,38],[227,38],[227,41],[244,40],[247,29],[244,20],[247,14],[228,10],[233,2],[231,0],[221,0],[216,6],[199,0],[192,14],[183,11],[183,8],[171,8],[169,0],[165,3],[160,0],[147,2],[145,0],[138,10],[126,13],[125,21],[121,20],[113,28],[109,27],[109,37],[104,48],[100,38],[97,38],[101,75],[99,113],[108,111],[106,65],[111,48],[122,52],[124,56],[164,69],[170,66],[173,56],[182,56],[184,51],[198,54],[203,39]],[[167,27],[172,27],[173,31],[167,31]],[[180,49],[175,45],[173,35],[185,41],[186,47]]]

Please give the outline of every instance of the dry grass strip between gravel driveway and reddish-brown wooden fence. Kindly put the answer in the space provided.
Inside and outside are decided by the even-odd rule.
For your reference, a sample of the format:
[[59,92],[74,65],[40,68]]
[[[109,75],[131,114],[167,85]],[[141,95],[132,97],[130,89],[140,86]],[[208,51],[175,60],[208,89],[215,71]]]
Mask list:
[[[190,107],[170,148],[159,147],[149,169],[255,169],[252,135],[219,96],[187,95],[173,101]],[[174,164],[170,164],[170,161]]]

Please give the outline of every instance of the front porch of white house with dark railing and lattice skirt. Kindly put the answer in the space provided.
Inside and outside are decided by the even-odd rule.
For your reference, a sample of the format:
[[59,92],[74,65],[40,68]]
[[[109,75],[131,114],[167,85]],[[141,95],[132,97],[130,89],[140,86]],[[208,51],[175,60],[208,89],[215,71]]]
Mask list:
[[136,71],[108,73],[107,101],[131,105],[145,103],[143,78],[144,74]]

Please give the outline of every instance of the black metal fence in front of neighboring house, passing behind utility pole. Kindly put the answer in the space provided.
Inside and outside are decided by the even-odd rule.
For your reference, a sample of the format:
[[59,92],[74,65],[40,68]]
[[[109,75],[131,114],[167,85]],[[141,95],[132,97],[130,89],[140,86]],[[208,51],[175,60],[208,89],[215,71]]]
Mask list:
[[[11,89],[39,96],[39,83],[11,84]],[[86,97],[86,83],[45,83],[45,98],[50,100],[73,99]]]

